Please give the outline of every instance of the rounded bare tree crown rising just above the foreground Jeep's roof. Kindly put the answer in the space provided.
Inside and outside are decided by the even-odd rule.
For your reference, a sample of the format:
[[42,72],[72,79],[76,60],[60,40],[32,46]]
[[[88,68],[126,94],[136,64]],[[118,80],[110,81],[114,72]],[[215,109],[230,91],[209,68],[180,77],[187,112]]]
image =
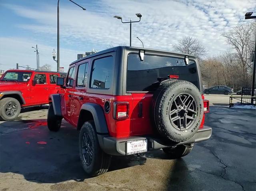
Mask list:
[[208,55],[206,47],[192,36],[182,37],[177,44],[173,45],[173,49],[180,53],[194,55],[200,60]]

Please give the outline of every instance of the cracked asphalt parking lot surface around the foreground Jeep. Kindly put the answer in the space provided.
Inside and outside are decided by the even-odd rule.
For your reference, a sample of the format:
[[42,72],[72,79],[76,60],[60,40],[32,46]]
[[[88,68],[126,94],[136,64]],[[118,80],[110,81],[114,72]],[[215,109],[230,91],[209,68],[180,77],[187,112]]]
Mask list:
[[39,109],[0,122],[1,191],[256,190],[256,110],[211,106],[212,137],[188,156],[171,160],[158,150],[146,158],[113,157],[107,173],[88,178],[78,132],[64,120],[59,132],[49,132],[47,109]]

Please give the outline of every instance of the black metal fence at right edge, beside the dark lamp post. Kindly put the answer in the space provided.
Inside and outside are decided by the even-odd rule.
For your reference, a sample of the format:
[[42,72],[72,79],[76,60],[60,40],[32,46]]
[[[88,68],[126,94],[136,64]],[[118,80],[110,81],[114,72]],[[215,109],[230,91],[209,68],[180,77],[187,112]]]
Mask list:
[[232,107],[234,105],[256,105],[256,89],[243,87],[242,91],[238,91],[237,95],[231,95],[229,97],[229,106]]

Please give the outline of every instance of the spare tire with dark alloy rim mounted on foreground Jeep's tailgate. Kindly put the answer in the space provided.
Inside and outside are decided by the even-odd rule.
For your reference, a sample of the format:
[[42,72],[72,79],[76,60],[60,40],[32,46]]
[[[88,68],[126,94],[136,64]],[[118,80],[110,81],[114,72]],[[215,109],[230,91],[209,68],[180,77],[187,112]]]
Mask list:
[[203,101],[198,88],[184,80],[167,80],[153,96],[153,117],[160,135],[184,142],[196,134],[203,118]]

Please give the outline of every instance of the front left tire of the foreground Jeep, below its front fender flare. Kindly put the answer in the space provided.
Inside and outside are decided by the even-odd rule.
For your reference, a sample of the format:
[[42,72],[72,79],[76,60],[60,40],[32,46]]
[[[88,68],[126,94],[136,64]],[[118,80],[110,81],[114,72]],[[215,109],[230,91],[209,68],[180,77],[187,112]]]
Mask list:
[[62,121],[62,116],[57,116],[54,114],[52,103],[50,104],[48,108],[48,114],[47,114],[47,126],[50,131],[57,132],[60,130]]

